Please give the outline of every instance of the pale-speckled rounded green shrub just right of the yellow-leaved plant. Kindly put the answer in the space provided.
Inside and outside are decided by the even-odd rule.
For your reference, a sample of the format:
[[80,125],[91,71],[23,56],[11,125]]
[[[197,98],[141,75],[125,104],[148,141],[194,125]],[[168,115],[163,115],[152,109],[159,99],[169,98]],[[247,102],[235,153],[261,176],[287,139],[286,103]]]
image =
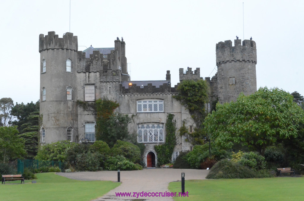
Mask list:
[[239,161],[240,164],[249,167],[250,169],[265,169],[266,162],[264,156],[257,152],[246,152]]

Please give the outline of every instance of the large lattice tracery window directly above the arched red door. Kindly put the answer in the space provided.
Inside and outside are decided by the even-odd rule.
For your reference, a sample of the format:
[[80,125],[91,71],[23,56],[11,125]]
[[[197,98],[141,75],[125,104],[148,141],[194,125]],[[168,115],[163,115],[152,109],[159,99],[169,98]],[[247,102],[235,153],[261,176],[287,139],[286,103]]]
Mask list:
[[164,124],[138,124],[138,142],[164,142]]

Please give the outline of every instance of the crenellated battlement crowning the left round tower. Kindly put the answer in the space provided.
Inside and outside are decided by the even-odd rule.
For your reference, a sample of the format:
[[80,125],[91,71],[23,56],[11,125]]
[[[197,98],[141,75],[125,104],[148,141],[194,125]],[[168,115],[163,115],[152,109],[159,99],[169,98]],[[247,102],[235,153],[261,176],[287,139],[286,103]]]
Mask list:
[[73,33],[66,32],[62,38],[59,38],[54,31],[48,32],[48,35],[39,35],[39,52],[49,49],[67,49],[71,51],[78,51],[77,36]]

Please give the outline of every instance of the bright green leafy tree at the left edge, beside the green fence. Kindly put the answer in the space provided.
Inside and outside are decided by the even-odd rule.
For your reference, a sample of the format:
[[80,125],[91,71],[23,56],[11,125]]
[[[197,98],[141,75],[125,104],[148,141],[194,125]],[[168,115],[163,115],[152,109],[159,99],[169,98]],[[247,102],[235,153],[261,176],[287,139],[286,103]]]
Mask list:
[[24,142],[19,138],[16,126],[0,127],[0,159],[3,162],[26,155]]

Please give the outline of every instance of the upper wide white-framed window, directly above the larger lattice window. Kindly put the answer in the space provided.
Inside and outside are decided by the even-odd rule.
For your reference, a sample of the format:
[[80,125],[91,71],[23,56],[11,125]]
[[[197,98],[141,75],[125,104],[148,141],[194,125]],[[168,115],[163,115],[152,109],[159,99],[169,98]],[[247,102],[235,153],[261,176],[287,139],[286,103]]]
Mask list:
[[145,99],[136,101],[136,110],[143,112],[164,112],[164,100]]

